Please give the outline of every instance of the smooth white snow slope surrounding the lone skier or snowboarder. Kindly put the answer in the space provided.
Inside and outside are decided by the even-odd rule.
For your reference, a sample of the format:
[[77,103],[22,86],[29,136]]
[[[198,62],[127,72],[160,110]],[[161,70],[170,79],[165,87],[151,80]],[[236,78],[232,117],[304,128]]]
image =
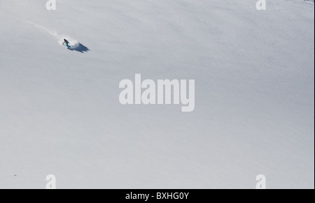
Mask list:
[[[0,188],[314,188],[314,2],[45,3],[0,1]],[[120,105],[136,73],[195,111]]]

